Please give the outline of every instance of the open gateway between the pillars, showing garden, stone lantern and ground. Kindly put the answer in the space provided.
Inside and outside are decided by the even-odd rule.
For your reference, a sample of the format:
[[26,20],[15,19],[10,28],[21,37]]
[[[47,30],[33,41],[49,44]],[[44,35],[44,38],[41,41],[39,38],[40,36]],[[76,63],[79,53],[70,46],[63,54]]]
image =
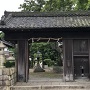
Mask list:
[[58,38],[45,40],[33,38],[33,42],[30,43],[29,80],[57,81],[59,79],[61,81],[63,79],[62,40],[59,41]]

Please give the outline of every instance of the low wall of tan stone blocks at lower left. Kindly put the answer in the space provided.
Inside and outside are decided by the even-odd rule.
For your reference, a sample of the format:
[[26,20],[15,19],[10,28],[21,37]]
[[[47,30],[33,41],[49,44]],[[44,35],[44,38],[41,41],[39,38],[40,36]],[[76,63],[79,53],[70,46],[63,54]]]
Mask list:
[[14,68],[0,68],[0,86],[14,85],[16,72]]

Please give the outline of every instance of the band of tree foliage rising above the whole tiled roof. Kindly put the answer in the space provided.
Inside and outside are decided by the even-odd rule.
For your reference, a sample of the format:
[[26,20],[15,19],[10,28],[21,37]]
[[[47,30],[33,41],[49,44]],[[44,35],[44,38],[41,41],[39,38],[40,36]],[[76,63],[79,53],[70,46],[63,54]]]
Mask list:
[[25,0],[20,8],[31,12],[90,10],[90,0]]

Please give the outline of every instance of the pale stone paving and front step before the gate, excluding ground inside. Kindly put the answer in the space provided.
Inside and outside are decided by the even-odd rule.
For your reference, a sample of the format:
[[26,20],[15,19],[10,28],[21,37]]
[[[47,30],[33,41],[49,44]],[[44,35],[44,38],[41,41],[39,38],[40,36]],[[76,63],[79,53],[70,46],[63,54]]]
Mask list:
[[90,90],[88,79],[77,79],[74,82],[64,82],[62,79],[33,79],[28,83],[16,83],[12,90]]

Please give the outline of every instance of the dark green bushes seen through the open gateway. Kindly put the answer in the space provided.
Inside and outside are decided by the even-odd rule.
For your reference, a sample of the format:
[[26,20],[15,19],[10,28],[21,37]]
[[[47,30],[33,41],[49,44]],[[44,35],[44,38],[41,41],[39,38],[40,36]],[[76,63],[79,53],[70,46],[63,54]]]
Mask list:
[[[32,61],[37,58],[37,51],[39,51],[40,54],[40,61],[44,61],[44,64],[54,65],[56,62],[56,65],[61,65],[61,54],[58,52],[55,48],[52,49],[51,44],[53,43],[32,43],[30,47],[30,57],[32,58]],[[34,61],[33,61],[34,62]]]

